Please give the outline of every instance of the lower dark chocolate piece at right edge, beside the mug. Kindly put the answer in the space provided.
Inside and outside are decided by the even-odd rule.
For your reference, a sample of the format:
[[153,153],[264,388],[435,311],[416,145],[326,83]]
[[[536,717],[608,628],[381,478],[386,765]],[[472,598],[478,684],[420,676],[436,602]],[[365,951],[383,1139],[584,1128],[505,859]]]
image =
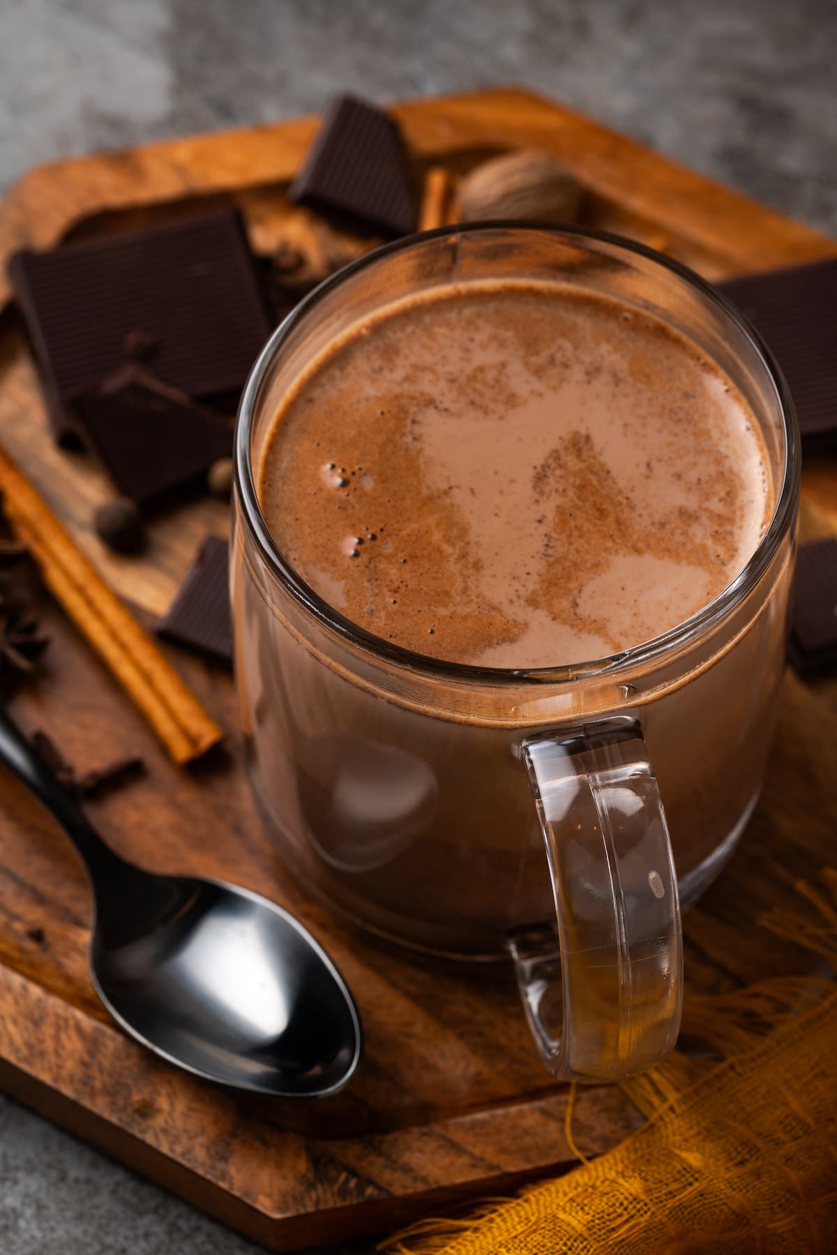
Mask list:
[[837,666],[837,540],[803,545],[793,582],[788,654],[801,675]]

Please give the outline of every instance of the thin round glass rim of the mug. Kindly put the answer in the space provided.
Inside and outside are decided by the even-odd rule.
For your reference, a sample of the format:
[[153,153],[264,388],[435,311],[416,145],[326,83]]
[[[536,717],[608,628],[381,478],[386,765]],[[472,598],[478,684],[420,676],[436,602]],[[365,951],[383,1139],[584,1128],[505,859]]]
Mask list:
[[[518,235],[536,233],[552,235],[565,241],[582,240],[597,241],[620,248],[627,254],[634,254],[651,261],[663,270],[668,270],[686,285],[695,289],[704,299],[720,309],[722,315],[732,321],[739,333],[749,341],[757,358],[760,360],[767,378],[769,379],[776,399],[782,414],[784,432],[784,463],[782,468],[782,483],[776,499],[776,507],[770,521],[762,536],[758,546],[748,562],[739,571],[735,579],[727,585],[712,601],[701,606],[700,610],[684,619],[683,622],[668,629],[650,640],[629,649],[610,654],[599,659],[582,663],[561,664],[537,668],[501,668],[478,666],[471,663],[453,663],[443,658],[433,658],[428,654],[419,654],[415,650],[405,649],[393,641],[384,640],[374,633],[368,631],[351,619],[341,615],[299,575],[287,561],[274,538],[259,502],[256,492],[252,458],[251,434],[256,414],[256,405],[262,383],[267,371],[280,351],[287,336],[309,315],[316,310],[320,301],[340,287],[348,279],[374,266],[385,257],[405,252],[428,240],[457,238],[468,235],[478,235],[487,231],[511,231]],[[256,542],[262,560],[279,582],[287,589],[302,609],[311,614],[321,625],[336,633],[344,641],[360,648],[379,660],[409,668],[425,676],[439,680],[458,680],[464,684],[551,684],[580,680],[590,676],[611,675],[635,666],[642,666],[656,661],[659,658],[674,653],[681,645],[689,645],[703,633],[718,624],[728,611],[733,610],[755,587],[770,562],[776,557],[796,515],[796,498],[801,474],[801,442],[799,428],[796,422],[796,409],[791,393],[770,349],[767,346],[759,333],[742,314],[742,311],[725,296],[723,296],[712,284],[698,275],[691,267],[673,257],[668,257],[649,248],[637,240],[629,240],[625,236],[610,231],[597,231],[589,227],[576,227],[553,222],[533,222],[522,220],[497,220],[468,223],[456,223],[453,226],[437,227],[433,231],[422,231],[379,248],[374,248],[355,261],[341,267],[330,275],[314,291],[305,296],[271,334],[261,353],[259,354],[247,383],[245,384],[235,429],[233,449],[233,482],[236,499],[241,506],[241,516]]]

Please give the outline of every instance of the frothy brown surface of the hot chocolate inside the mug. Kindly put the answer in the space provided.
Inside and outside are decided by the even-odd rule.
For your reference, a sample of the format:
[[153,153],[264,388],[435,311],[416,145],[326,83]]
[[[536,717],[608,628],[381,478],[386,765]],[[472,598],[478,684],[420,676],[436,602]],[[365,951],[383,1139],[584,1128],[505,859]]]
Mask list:
[[732,582],[773,510],[758,424],[694,344],[612,299],[523,281],[350,326],[285,398],[260,497],[346,617],[504,668],[674,628]]

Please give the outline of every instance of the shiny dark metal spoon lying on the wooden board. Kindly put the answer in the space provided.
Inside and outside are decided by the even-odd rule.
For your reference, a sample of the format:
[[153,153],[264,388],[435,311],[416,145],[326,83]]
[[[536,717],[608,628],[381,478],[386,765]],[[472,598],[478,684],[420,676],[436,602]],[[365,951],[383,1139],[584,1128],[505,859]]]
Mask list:
[[132,1037],[208,1081],[285,1098],[341,1089],[360,1060],[351,994],[287,911],[246,889],[125,862],[0,710],[0,762],[51,811],[93,889],[90,975]]

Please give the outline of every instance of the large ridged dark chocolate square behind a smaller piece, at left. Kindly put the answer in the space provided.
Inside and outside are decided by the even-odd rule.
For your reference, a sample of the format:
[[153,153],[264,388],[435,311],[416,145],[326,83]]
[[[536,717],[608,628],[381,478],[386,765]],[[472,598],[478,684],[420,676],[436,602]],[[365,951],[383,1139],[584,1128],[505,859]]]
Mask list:
[[18,252],[9,276],[56,437],[78,437],[70,394],[148,345],[147,365],[193,397],[238,393],[271,330],[237,210]]

